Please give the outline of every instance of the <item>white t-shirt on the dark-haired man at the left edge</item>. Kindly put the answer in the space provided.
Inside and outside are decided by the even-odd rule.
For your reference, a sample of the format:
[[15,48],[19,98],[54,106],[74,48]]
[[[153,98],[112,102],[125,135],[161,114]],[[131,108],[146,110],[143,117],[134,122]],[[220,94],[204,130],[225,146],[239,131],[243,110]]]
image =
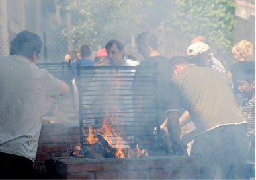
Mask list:
[[62,82],[25,57],[0,57],[0,152],[36,156],[44,103]]

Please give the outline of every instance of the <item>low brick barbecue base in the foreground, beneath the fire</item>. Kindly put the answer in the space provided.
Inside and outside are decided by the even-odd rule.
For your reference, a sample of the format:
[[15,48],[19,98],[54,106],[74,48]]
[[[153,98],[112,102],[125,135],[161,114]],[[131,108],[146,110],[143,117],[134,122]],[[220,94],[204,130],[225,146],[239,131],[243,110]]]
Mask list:
[[46,168],[52,179],[200,179],[200,164],[191,156],[53,158]]

